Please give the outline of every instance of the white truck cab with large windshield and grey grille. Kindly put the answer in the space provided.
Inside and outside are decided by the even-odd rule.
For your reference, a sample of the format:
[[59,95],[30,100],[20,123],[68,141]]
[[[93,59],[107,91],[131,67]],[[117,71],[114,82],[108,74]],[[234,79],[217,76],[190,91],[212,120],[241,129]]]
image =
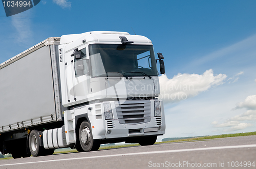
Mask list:
[[[164,73],[163,57],[158,55]],[[154,144],[165,132],[156,61],[153,44],[144,36],[125,32],[61,36],[62,104],[69,107],[65,114],[87,115],[84,119],[100,143]],[[68,145],[80,137],[74,133],[67,137]]]

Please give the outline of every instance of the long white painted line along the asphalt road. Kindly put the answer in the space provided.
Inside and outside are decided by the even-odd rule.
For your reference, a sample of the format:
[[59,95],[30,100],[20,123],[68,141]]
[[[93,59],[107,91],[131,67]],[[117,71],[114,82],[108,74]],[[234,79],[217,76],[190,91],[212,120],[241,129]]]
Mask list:
[[237,149],[237,148],[250,148],[250,147],[256,147],[256,145],[222,146],[222,147],[207,147],[207,148],[197,148],[197,149],[164,150],[164,151],[150,151],[150,152],[139,152],[139,153],[113,154],[113,155],[102,155],[102,156],[92,156],[92,157],[79,157],[79,158],[67,158],[67,159],[57,159],[57,160],[47,160],[47,161],[33,161],[33,162],[23,162],[23,163],[13,163],[13,164],[2,164],[2,165],[0,164],[0,166],[34,164],[34,163],[41,163],[41,162],[55,162],[55,161],[67,161],[67,160],[80,160],[80,159],[91,159],[91,158],[130,156],[130,155],[143,155],[143,154],[177,153],[177,152],[186,152],[186,151]]

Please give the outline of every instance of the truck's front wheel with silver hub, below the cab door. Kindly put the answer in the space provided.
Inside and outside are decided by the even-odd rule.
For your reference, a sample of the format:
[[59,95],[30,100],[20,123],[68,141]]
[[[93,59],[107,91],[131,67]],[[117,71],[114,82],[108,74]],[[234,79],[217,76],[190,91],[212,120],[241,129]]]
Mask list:
[[91,124],[83,121],[79,128],[79,142],[80,146],[77,150],[83,151],[96,151],[100,147],[99,140],[93,139]]

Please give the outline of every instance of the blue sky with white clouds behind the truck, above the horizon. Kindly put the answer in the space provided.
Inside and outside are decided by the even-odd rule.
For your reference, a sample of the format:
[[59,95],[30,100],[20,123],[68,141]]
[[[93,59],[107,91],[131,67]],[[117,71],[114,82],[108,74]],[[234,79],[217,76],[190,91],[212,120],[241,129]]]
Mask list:
[[[166,134],[256,131],[256,1],[48,0],[6,17],[0,6],[0,63],[48,37],[123,31],[152,40],[165,57]],[[133,29],[132,29],[133,28]],[[179,93],[180,92],[180,93]]]

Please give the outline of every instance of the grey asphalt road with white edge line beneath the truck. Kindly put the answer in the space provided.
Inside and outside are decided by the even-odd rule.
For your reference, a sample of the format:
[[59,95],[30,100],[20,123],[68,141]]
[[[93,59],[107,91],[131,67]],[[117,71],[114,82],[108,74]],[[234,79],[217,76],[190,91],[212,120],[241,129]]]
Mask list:
[[256,168],[256,136],[165,143],[0,161],[0,168],[19,169],[244,168],[245,166]]

